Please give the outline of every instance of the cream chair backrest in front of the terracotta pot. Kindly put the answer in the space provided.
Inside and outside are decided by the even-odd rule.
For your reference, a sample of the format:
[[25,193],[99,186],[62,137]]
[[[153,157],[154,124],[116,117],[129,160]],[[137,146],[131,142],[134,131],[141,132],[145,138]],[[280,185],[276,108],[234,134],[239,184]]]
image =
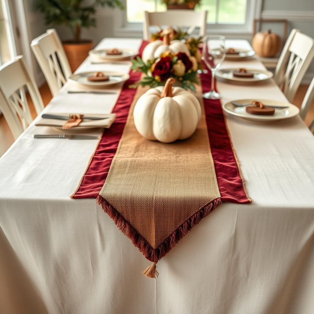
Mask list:
[[55,29],[35,38],[30,46],[55,96],[72,74],[68,58]]

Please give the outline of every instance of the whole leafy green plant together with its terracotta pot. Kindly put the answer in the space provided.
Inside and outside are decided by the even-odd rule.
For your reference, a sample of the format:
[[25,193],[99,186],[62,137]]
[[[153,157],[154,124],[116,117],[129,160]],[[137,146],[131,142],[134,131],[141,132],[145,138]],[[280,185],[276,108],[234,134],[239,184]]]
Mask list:
[[81,38],[81,30],[83,27],[96,27],[96,8],[123,9],[120,0],[94,0],[92,3],[86,0],[36,0],[35,5],[45,15],[46,24],[63,24],[71,29],[73,39],[62,43],[73,72],[93,48],[91,40]]

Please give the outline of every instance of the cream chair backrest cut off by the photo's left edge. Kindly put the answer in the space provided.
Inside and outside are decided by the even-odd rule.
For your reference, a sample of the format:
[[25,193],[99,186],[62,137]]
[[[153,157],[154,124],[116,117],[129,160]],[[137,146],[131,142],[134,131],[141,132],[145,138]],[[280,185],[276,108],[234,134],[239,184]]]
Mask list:
[[25,95],[25,86],[37,114],[41,113],[44,105],[35,80],[30,76],[22,56],[0,67],[0,82],[0,109],[16,139],[33,121]]

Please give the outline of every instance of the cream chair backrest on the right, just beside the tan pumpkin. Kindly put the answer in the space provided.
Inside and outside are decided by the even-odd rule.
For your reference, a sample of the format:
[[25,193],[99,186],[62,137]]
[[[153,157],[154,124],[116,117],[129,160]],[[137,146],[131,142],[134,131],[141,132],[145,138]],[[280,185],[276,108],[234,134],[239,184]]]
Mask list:
[[314,40],[293,29],[284,45],[275,69],[275,82],[291,102],[314,57]]

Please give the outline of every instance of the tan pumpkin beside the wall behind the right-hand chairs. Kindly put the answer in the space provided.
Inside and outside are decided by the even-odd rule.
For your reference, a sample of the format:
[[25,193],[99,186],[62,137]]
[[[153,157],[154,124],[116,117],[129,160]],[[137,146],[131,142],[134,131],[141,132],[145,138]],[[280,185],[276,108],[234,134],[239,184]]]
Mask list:
[[281,46],[281,39],[279,35],[271,33],[270,30],[266,32],[259,32],[255,34],[252,40],[252,47],[258,56],[269,58],[275,56]]

